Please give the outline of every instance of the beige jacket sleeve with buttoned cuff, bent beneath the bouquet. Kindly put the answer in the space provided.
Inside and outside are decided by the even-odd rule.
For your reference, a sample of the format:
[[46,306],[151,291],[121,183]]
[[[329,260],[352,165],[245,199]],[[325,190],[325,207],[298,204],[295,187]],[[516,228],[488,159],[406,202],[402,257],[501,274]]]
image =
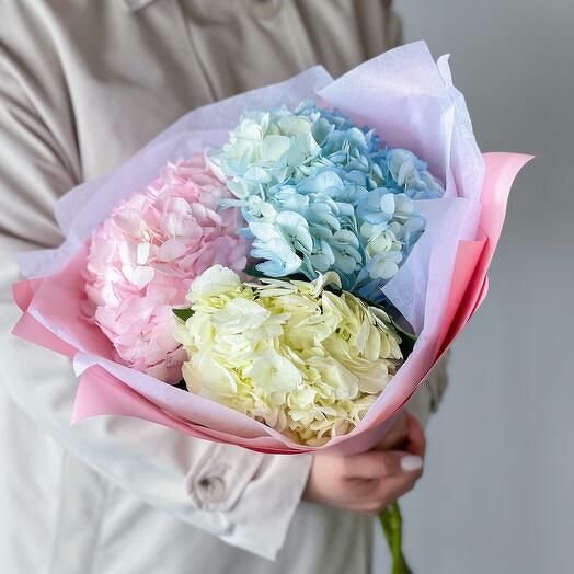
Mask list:
[[54,204],[78,183],[80,170],[5,68],[0,150],[0,380],[13,401],[72,455],[145,503],[275,556],[305,489],[310,456],[251,452],[128,417],[70,426],[77,387],[71,364],[10,334],[20,314],[11,285],[20,278],[18,252],[61,241]]

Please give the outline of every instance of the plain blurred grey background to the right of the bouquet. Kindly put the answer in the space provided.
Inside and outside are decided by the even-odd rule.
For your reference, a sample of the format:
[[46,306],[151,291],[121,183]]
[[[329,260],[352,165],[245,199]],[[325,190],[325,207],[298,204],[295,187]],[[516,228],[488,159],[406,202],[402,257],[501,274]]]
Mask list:
[[425,475],[403,503],[416,574],[574,572],[574,4],[397,0],[451,54],[482,151],[513,188],[489,297],[456,344]]

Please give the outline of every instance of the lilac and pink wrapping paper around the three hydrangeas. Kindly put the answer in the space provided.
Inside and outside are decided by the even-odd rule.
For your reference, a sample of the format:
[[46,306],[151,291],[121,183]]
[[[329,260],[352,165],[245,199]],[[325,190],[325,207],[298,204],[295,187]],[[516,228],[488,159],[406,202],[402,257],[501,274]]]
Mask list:
[[59,249],[20,256],[27,279],[14,286],[23,311],[14,334],[73,359],[81,378],[72,423],[102,414],[135,416],[263,452],[315,450],[229,407],[115,363],[110,341],[81,318],[80,310],[87,241],[115,203],[145,187],[168,160],[184,160],[221,145],[242,112],[295,107],[308,97],[376,128],[389,146],[412,150],[446,184],[443,198],[416,202],[427,220],[426,231],[384,287],[418,335],[414,349],[361,423],[320,448],[351,454],[378,441],[477,311],[486,295],[486,272],[510,185],[530,157],[481,154],[464,99],[452,85],[448,57],[435,62],[422,42],[374,58],[338,80],[321,67],[311,68],[286,82],[185,115],[116,172],[60,199],[56,217],[66,240]]

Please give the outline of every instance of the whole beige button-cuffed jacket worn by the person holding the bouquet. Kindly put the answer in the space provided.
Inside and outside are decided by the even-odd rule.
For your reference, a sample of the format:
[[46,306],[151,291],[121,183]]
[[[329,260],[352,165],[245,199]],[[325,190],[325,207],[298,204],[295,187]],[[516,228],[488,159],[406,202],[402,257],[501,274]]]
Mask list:
[[[113,416],[70,427],[70,364],[9,334],[10,285],[16,252],[60,242],[53,208],[70,187],[191,108],[318,62],[337,76],[397,44],[386,4],[0,2],[0,572],[368,572],[372,521],[300,502],[309,456]],[[445,380],[417,394],[422,418]]]

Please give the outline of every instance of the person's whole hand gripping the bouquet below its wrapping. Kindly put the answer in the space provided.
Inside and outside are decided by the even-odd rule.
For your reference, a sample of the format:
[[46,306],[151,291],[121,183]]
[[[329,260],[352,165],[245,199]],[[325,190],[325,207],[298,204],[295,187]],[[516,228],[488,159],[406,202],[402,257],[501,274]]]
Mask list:
[[378,515],[421,478],[425,448],[418,421],[410,414],[401,415],[372,450],[351,456],[315,455],[303,498]]

